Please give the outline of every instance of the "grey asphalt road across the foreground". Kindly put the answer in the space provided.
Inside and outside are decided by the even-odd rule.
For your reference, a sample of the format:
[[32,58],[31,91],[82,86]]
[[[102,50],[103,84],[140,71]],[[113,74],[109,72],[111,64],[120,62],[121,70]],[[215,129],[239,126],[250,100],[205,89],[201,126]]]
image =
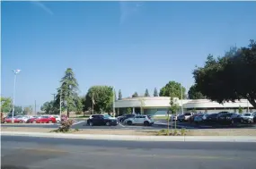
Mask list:
[[256,143],[2,136],[2,169],[254,169]]

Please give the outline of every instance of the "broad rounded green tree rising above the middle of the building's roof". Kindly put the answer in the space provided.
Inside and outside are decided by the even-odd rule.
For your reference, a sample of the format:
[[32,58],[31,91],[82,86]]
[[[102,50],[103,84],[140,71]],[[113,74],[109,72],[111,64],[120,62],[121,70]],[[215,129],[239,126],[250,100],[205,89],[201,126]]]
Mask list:
[[181,99],[181,89],[182,97],[186,97],[186,89],[181,86],[181,83],[176,81],[169,81],[162,89],[160,89],[160,97],[178,97]]

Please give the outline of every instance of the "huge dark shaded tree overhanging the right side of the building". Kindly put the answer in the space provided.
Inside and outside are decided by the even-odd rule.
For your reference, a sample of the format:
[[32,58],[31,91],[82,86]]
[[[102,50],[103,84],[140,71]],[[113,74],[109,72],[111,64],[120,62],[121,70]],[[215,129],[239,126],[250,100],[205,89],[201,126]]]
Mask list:
[[218,103],[246,98],[256,107],[256,42],[248,47],[232,47],[223,57],[207,56],[197,67],[194,79],[199,91]]

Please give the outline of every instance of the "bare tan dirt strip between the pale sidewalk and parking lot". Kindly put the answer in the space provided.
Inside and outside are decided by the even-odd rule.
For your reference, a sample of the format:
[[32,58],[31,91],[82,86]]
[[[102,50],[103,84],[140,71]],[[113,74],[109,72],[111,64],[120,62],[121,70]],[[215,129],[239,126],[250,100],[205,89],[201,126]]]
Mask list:
[[[49,132],[48,128],[1,127],[1,131]],[[154,130],[80,130],[75,134],[110,134],[110,135],[156,135]],[[255,129],[198,129],[188,130],[187,136],[256,136]]]

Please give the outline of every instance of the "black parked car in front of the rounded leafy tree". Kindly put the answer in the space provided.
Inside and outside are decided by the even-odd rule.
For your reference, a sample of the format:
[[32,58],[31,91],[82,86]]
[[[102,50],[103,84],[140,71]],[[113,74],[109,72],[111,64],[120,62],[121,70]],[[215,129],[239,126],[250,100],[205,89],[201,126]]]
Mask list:
[[108,114],[93,114],[91,118],[87,120],[87,124],[93,125],[118,125],[118,120],[111,117]]

